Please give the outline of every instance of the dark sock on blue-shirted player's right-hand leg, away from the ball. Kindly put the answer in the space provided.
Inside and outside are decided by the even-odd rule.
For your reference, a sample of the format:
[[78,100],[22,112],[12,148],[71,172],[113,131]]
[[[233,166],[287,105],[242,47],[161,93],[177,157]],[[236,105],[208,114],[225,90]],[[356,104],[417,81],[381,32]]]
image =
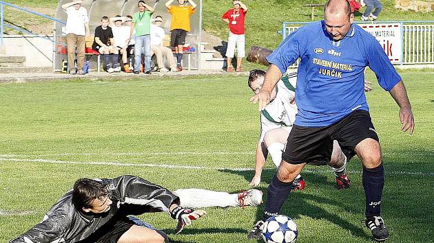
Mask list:
[[383,163],[372,169],[363,167],[362,182],[366,196],[366,218],[380,216],[380,203],[384,187]]

